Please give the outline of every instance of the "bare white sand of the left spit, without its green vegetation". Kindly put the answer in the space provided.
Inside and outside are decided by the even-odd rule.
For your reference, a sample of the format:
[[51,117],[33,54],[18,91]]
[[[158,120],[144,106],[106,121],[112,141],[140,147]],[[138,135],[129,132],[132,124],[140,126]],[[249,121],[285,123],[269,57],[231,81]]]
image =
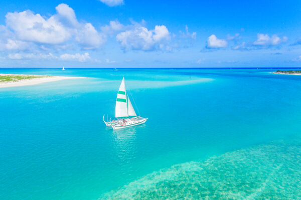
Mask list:
[[[2,75],[31,75],[31,74],[0,73],[0,79]],[[44,76],[44,77],[22,79],[22,80],[9,81],[9,82],[0,82],[0,88],[34,85],[34,84],[41,84],[44,82],[52,82],[52,81],[66,80],[66,79],[86,78],[86,77],[74,77],[74,76],[49,76],[49,75],[32,75],[32,76]]]

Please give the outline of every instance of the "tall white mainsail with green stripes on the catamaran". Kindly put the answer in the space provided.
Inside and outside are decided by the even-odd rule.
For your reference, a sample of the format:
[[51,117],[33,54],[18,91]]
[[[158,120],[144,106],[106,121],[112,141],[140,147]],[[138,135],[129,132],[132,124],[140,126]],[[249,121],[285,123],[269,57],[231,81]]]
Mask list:
[[128,118],[124,77],[121,81],[121,84],[119,86],[119,90],[118,90],[118,93],[117,93],[116,107],[115,107],[115,117],[116,118]]

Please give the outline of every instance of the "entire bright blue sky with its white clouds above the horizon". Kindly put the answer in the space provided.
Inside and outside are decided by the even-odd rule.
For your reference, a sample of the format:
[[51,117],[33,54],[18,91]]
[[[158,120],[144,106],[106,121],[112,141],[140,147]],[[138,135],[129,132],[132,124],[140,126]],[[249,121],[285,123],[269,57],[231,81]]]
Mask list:
[[299,67],[299,0],[2,0],[0,67]]

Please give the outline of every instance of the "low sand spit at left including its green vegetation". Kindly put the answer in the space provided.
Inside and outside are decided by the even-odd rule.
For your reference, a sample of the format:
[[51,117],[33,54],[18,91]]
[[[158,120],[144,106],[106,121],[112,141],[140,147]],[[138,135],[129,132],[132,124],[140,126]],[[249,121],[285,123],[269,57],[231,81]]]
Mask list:
[[0,73],[0,88],[33,85],[33,84],[40,84],[43,82],[51,82],[51,81],[74,79],[74,78],[84,78],[84,77]]

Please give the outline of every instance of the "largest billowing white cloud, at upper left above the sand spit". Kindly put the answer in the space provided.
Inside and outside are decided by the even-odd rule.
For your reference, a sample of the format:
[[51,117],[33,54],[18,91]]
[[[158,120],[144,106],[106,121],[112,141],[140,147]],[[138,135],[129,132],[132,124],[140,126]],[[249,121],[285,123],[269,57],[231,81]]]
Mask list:
[[49,18],[31,10],[8,12],[6,25],[18,40],[38,44],[64,44],[75,38],[82,48],[93,49],[105,42],[105,36],[91,23],[77,20],[74,10],[69,5],[61,3],[56,6],[56,11],[57,13]]

